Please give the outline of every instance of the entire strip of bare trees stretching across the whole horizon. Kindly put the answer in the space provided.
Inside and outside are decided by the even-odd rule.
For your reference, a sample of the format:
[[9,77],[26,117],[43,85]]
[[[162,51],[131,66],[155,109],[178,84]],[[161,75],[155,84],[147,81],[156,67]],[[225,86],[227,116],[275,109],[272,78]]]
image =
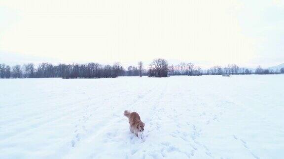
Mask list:
[[207,70],[195,66],[193,63],[180,63],[169,65],[165,59],[154,59],[146,68],[142,61],[137,66],[123,68],[119,62],[113,65],[102,65],[99,63],[87,64],[59,64],[40,63],[35,66],[33,63],[23,66],[0,64],[0,78],[64,78],[64,79],[94,79],[94,78],[116,78],[118,76],[148,76],[148,77],[168,77],[168,76],[201,76],[201,75],[249,75],[249,74],[278,74],[284,73],[284,68],[273,71],[262,69],[257,66],[254,72],[247,68],[241,68],[236,64],[229,64],[226,67],[214,66]]

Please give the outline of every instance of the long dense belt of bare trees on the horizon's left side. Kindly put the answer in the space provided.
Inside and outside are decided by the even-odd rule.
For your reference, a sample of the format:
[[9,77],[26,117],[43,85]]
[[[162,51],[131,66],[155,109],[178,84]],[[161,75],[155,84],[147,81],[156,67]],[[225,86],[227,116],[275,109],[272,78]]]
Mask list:
[[87,64],[59,64],[40,63],[37,67],[33,63],[10,66],[0,64],[0,78],[116,78],[123,76],[124,69],[120,63],[101,65]]

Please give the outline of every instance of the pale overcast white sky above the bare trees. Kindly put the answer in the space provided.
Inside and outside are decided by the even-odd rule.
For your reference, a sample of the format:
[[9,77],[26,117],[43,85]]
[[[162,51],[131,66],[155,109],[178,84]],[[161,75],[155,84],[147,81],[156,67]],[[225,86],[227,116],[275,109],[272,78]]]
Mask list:
[[284,63],[284,1],[0,0],[0,63],[153,58]]

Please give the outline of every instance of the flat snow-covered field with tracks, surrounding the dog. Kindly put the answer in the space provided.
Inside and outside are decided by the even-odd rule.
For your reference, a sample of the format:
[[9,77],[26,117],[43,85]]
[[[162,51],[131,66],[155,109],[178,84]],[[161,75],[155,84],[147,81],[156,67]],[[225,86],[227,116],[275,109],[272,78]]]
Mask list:
[[283,159],[284,75],[0,79],[5,158]]

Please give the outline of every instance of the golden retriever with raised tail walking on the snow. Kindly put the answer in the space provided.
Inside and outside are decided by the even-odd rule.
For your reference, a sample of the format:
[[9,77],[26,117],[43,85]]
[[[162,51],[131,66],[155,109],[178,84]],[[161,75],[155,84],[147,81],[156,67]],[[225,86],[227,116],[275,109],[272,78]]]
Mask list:
[[138,137],[139,132],[144,131],[145,124],[141,121],[140,116],[137,112],[124,111],[124,116],[128,117],[129,130]]

